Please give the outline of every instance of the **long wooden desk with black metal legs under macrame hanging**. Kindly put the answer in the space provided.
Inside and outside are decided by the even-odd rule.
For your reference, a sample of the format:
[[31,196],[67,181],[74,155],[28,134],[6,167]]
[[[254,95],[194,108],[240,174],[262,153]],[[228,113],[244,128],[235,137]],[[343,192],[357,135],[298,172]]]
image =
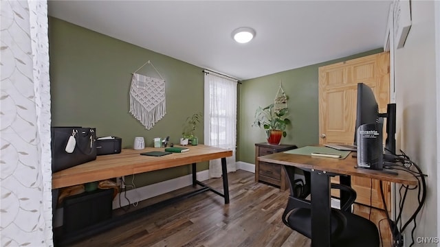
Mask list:
[[[184,195],[179,195],[176,198],[170,198],[164,202],[153,204],[149,207],[137,209],[125,215],[113,217],[111,220],[98,223],[94,226],[89,226],[83,230],[69,235],[61,235],[57,237],[57,244],[69,244],[78,239],[83,239],[90,235],[100,233],[106,229],[118,226],[123,222],[129,222],[135,218],[140,217],[142,213],[147,213],[151,209],[157,207],[164,207],[166,204],[171,204],[175,200],[187,198],[203,191],[212,191],[217,195],[222,196],[225,204],[229,203],[229,189],[228,189],[228,173],[226,171],[226,157],[232,156],[231,150],[224,150],[221,148],[214,148],[208,145],[189,145],[190,150],[183,153],[173,153],[165,156],[144,156],[140,155],[142,152],[164,151],[164,148],[145,148],[144,150],[122,150],[120,154],[109,154],[98,156],[95,161],[90,161],[75,167],[70,167],[60,172],[52,174],[52,189],[59,189],[72,185],[80,185],[83,183],[94,182],[109,178],[116,178],[120,176],[127,176],[133,174],[140,174],[142,172],[151,172],[158,169],[166,169],[170,167],[177,167],[181,165],[192,165],[192,185],[201,185],[201,189],[197,189]],[[223,193],[217,191],[204,183],[201,183],[196,178],[196,163],[203,161],[210,161],[221,158],[221,172],[223,178]],[[55,239],[55,238],[54,238]]]

